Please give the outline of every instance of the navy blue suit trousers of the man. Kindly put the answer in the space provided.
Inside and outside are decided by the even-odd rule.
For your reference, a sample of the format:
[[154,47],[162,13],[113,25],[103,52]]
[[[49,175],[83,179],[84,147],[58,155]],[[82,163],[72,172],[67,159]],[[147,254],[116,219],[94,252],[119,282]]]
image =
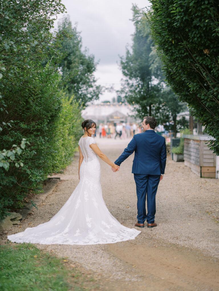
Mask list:
[[[137,210],[138,210],[138,223],[154,223],[156,213],[156,200],[157,187],[160,182],[160,175],[149,174],[134,174],[137,193]],[[147,210],[146,214],[146,197],[147,197]]]

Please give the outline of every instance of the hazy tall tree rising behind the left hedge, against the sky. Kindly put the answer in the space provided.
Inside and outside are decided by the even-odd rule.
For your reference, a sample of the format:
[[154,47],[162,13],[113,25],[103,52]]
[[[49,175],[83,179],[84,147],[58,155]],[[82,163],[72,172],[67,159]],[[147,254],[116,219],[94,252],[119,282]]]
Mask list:
[[[66,89],[69,96],[86,105],[87,102],[99,99],[102,88],[96,84],[94,72],[97,62],[94,55],[89,54],[88,49],[82,51],[82,39],[77,27],[72,27],[69,16],[63,17],[58,23],[58,33],[65,33],[63,39],[55,40],[59,50],[65,53],[65,57],[59,64],[62,77],[68,79]],[[69,75],[71,72],[77,74]]]

